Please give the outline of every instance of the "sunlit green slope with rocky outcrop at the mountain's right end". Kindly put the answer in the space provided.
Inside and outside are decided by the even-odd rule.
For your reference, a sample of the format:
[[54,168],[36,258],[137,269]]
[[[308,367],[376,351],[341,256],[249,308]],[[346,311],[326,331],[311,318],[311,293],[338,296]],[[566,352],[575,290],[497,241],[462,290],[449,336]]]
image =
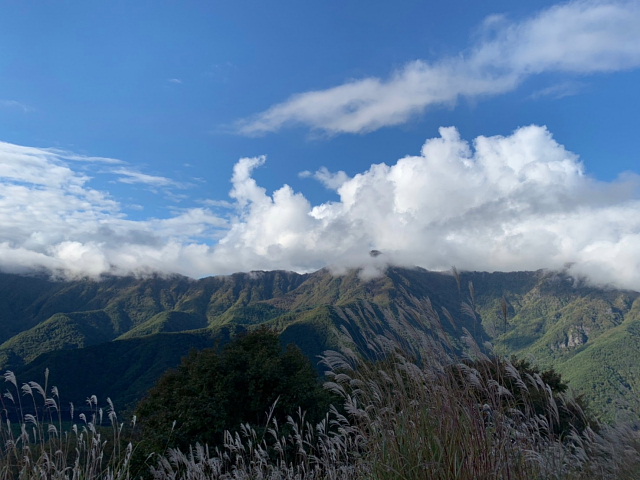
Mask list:
[[506,321],[495,303],[486,308],[485,326],[498,352],[555,368],[602,418],[637,417],[639,296],[543,273],[524,294],[504,292]]

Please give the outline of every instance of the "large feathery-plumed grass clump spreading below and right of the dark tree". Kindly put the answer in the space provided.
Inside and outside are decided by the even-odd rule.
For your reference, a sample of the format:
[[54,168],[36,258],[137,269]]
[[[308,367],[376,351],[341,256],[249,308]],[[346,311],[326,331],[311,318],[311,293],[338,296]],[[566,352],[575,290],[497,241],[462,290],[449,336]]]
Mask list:
[[392,335],[367,339],[365,356],[348,348],[327,352],[325,386],[343,405],[319,425],[308,425],[302,413],[289,418],[287,435],[275,423],[264,437],[245,425],[227,432],[219,448],[170,450],[153,468],[154,477],[638,478],[636,430],[600,426],[599,433],[589,427],[554,433],[562,412],[581,410],[570,398],[554,396],[540,375],[522,376],[509,361],[489,358],[470,335],[470,360],[453,362],[447,342],[434,340],[442,340],[443,331],[431,337],[413,331],[411,342]]

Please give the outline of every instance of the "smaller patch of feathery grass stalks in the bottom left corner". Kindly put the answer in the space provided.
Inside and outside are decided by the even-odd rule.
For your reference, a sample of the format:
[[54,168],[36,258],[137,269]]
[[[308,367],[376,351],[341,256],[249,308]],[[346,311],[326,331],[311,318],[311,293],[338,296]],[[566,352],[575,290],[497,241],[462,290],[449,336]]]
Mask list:
[[[63,420],[58,389],[30,381],[18,386],[13,372],[4,375],[0,424],[0,480],[131,478],[131,443],[122,448],[123,424],[109,405],[110,428],[102,426],[102,409],[95,396],[74,423],[74,408]],[[22,397],[27,401],[23,404]]]

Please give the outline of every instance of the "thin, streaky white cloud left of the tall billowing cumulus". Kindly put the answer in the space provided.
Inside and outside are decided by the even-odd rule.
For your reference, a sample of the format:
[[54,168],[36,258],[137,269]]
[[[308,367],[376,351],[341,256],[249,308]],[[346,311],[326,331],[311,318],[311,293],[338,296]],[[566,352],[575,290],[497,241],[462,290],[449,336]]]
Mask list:
[[[214,237],[226,221],[204,208],[183,209],[165,219],[128,220],[115,199],[91,188],[91,179],[74,169],[96,163],[123,164],[0,142],[0,268],[64,276],[190,273],[171,264],[181,260],[173,252],[190,251],[188,244],[199,237]],[[147,184],[168,185],[163,177],[129,173]]]

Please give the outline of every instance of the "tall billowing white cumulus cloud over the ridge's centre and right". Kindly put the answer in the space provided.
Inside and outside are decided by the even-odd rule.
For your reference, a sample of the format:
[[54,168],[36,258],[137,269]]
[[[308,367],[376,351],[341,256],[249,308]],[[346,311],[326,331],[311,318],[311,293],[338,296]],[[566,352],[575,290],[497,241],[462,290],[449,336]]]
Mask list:
[[[241,213],[212,249],[212,266],[510,271],[571,264],[598,283],[640,288],[640,178],[590,178],[544,127],[471,143],[442,128],[419,155],[341,178],[339,201],[316,206],[286,185],[268,196],[251,177],[263,163],[236,166],[232,196]],[[320,181],[332,178],[320,172]],[[371,249],[383,254],[371,257]]]

